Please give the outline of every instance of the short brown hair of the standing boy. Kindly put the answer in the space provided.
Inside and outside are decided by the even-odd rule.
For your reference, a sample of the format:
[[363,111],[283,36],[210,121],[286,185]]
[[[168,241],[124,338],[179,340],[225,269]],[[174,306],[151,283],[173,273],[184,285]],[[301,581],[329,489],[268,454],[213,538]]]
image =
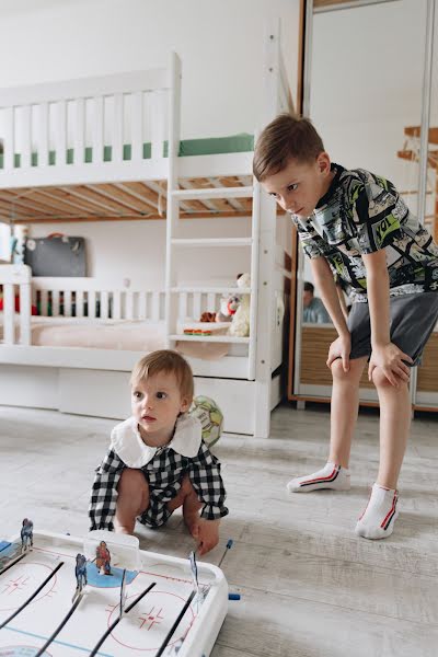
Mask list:
[[321,137],[306,117],[279,114],[266,126],[254,149],[253,173],[261,183],[283,171],[293,159],[313,162],[324,151]]

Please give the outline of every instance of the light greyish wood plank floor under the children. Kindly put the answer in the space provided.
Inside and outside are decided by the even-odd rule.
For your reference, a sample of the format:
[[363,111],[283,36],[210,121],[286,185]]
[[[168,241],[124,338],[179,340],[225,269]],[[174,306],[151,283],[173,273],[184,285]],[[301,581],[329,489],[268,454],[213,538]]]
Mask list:
[[[113,420],[0,407],[0,535],[24,516],[36,527],[83,534],[93,468]],[[287,406],[272,438],[226,436],[230,516],[206,561],[222,568],[230,601],[214,657],[437,657],[438,422],[416,419],[400,481],[400,518],[387,541],[355,537],[378,459],[378,417],[360,416],[351,491],[288,497],[292,475],[326,457],[328,413]],[[141,546],[186,556],[181,515],[158,531],[139,528]]]

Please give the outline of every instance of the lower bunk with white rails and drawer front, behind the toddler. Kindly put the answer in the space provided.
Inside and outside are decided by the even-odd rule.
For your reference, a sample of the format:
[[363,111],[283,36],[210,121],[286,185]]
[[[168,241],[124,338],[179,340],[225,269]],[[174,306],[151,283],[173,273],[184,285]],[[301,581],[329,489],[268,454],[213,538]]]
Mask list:
[[[117,289],[92,278],[32,278],[28,267],[13,265],[0,267],[0,403],[127,417],[134,364],[166,346],[164,292]],[[283,295],[278,285],[273,371],[283,360]],[[181,332],[204,331],[206,339],[181,341],[176,348],[192,366],[195,394],[211,396],[222,410],[224,430],[254,435],[260,384],[249,379],[249,339],[228,343],[226,323],[194,321],[219,300],[219,293],[181,293]],[[273,408],[281,396],[279,371],[269,396]]]

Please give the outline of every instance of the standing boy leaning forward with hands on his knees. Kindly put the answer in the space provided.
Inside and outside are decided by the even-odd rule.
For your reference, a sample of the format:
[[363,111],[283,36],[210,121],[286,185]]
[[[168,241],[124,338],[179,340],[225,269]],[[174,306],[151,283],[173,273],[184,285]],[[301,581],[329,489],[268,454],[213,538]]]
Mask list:
[[[411,423],[410,368],[419,362],[438,319],[438,246],[392,183],[331,163],[307,118],[275,118],[257,141],[253,169],[292,215],[338,334],[326,361],[333,377],[328,461],[291,480],[288,489],[349,489],[359,381],[368,361],[380,403],[380,465],[356,533],[387,538],[399,514],[396,485]],[[353,290],[348,321],[334,275]]]

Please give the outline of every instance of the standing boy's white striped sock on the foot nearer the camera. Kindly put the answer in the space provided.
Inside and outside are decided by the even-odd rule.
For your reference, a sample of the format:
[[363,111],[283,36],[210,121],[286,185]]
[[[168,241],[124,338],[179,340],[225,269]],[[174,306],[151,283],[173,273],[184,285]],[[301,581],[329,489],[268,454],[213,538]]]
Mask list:
[[357,535],[365,539],[390,537],[399,517],[397,499],[396,491],[373,484],[368,506],[356,525]]

